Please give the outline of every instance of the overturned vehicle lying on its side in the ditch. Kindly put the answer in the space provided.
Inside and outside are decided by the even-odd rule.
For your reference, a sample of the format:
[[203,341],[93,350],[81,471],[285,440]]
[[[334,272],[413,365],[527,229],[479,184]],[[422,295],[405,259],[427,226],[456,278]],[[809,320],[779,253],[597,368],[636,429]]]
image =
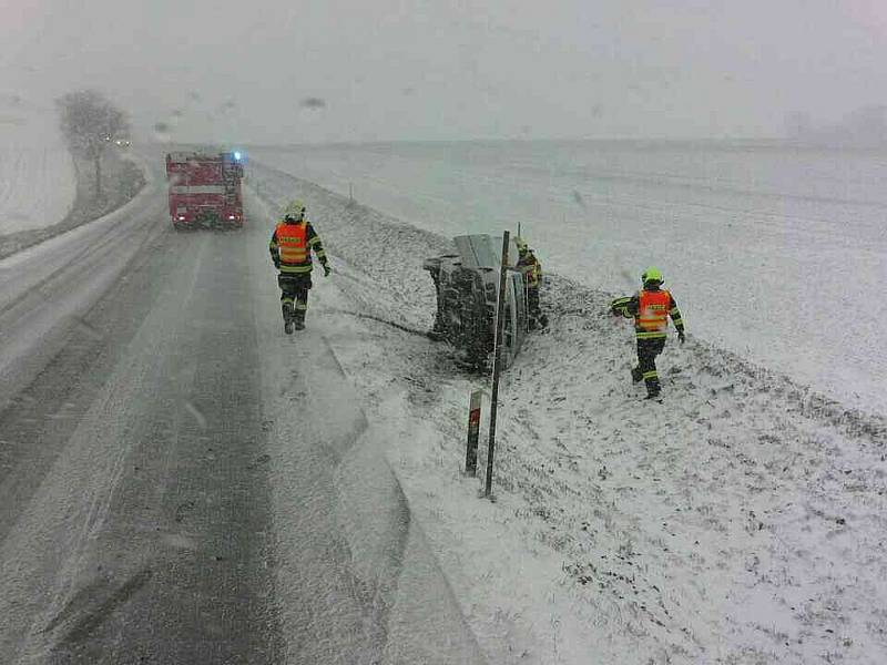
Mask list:
[[[449,341],[461,361],[473,368],[491,365],[496,339],[496,300],[502,238],[465,235],[453,238],[458,254],[427,258],[424,268],[437,289],[432,339]],[[517,269],[518,246],[508,249],[502,367],[509,367],[520,351],[528,329],[527,294]]]

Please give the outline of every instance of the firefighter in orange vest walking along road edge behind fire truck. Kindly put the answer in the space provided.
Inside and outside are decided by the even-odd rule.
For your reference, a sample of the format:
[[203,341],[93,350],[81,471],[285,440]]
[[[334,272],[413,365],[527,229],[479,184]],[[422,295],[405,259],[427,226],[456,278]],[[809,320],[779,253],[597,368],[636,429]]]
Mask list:
[[284,331],[292,335],[293,327],[305,327],[305,311],[308,309],[308,289],[312,287],[312,250],[324,266],[324,276],[329,276],[330,267],[324,252],[320,236],[305,218],[305,205],[293,201],[284,209],[284,218],[271,236],[271,258],[281,287],[281,308],[284,315]]

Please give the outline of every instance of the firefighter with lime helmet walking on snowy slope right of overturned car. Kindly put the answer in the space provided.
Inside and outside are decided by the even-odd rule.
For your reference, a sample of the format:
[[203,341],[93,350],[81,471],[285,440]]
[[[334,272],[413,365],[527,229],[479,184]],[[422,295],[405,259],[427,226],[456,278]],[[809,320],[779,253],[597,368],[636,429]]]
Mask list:
[[665,347],[669,317],[677,329],[677,339],[684,344],[684,323],[681,310],[672,295],[661,288],[662,273],[648,268],[641,276],[643,289],[633,296],[616,298],[610,305],[616,316],[634,318],[634,332],[638,338],[638,367],[632,368],[631,378],[646,383],[646,397],[659,397],[661,386],[656,372],[656,356]]

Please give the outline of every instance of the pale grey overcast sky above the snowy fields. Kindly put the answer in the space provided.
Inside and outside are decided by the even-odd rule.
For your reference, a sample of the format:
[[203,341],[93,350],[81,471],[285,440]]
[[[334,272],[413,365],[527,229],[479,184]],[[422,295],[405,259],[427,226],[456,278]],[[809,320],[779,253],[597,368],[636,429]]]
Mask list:
[[887,103],[885,34],[887,0],[0,0],[0,95],[194,141],[773,136]]

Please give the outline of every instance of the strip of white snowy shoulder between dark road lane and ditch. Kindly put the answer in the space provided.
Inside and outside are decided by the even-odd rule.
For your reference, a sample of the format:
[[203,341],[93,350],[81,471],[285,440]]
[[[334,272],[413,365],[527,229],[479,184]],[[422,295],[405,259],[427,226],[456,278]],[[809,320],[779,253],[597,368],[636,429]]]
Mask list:
[[[246,209],[269,231],[273,215],[248,191]],[[315,317],[346,296],[316,279],[312,325],[284,336],[267,245],[246,237],[285,662],[486,663],[386,461],[387,431],[367,419],[330,344],[360,324]]]

